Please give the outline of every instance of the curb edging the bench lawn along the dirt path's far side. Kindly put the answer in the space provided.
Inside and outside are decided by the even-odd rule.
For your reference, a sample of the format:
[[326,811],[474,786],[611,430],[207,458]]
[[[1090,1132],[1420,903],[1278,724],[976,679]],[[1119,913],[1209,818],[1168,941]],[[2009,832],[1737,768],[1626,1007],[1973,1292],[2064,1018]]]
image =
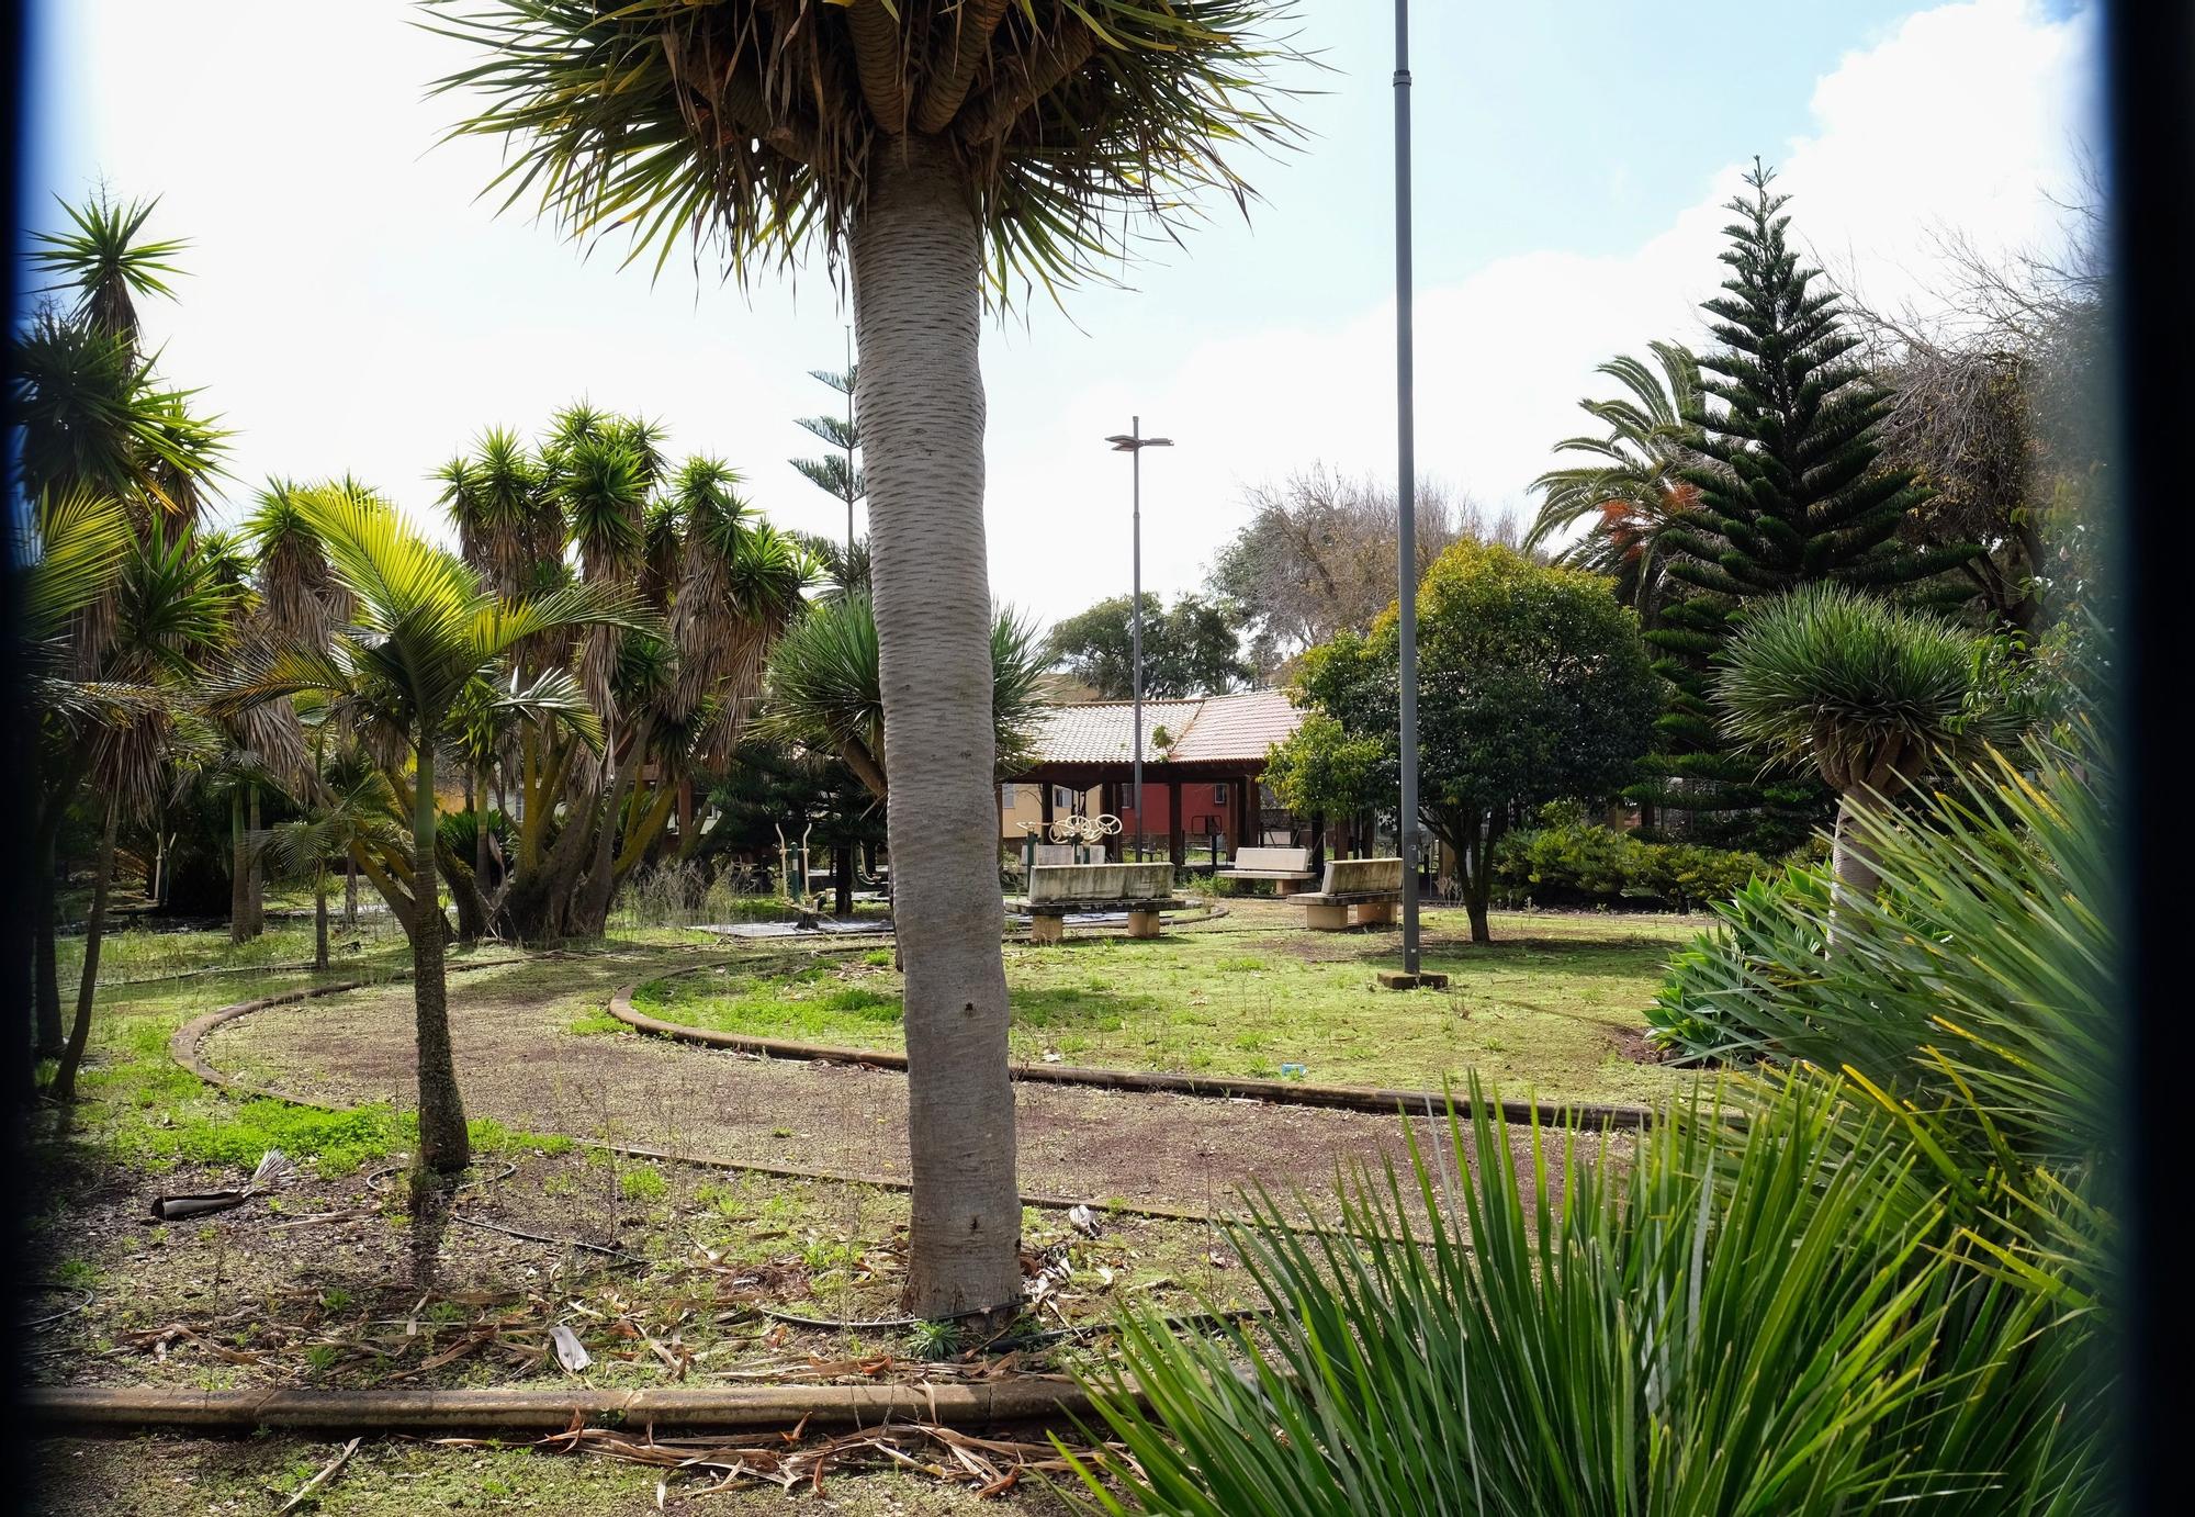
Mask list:
[[[799,1058],[825,1065],[865,1065],[869,1069],[898,1069],[904,1074],[907,1054],[893,1054],[891,1049],[874,1047],[830,1047],[825,1043],[792,1043],[788,1038],[755,1038],[742,1032],[718,1032],[713,1027],[689,1027],[676,1021],[663,1021],[661,1016],[650,1016],[632,1005],[632,992],[643,984],[656,984],[661,979],[678,979],[683,975],[698,975],[711,968],[709,964],[691,964],[687,968],[672,970],[667,975],[656,975],[654,979],[637,979],[630,986],[619,986],[610,995],[610,1016],[634,1027],[637,1032],[648,1032],[658,1038],[676,1038],[678,1043],[700,1043],[702,1047],[724,1047],[740,1054],[762,1054],[764,1058]],[[1297,1085],[1295,1080],[1256,1080],[1256,1078],[1234,1078],[1234,1076],[1196,1076],[1196,1074],[1146,1074],[1139,1069],[1093,1069],[1089,1065],[1012,1065],[1014,1080],[1025,1080],[1032,1085],[1084,1085],[1102,1091],[1141,1091],[1148,1095],[1201,1095],[1207,1100],[1260,1100],[1275,1106],[1326,1106],[1332,1111],[1365,1111],[1376,1117],[1392,1117],[1398,1113],[1425,1115],[1444,1113],[1449,1095],[1444,1091],[1392,1091],[1372,1089],[1361,1085]],[[1504,1100],[1493,1102],[1504,1117],[1510,1122],[1539,1122],[1541,1126],[1578,1126],[1578,1128],[1644,1128],[1653,1124],[1653,1109],[1648,1106],[1618,1106],[1600,1102],[1528,1102],[1528,1100]],[[1457,1120],[1468,1117],[1473,1102],[1468,1098],[1455,1098]]]

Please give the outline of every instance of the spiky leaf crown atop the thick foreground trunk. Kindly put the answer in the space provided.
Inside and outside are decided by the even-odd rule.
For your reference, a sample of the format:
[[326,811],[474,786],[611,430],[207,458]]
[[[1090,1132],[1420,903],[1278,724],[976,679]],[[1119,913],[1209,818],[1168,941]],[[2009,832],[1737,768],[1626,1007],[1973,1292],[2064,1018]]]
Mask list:
[[716,248],[746,279],[810,241],[836,259],[871,154],[911,127],[961,162],[1001,303],[1113,277],[1139,224],[1179,228],[1201,191],[1245,206],[1231,154],[1297,141],[1280,75],[1308,61],[1280,0],[428,9],[483,55],[437,83],[485,101],[452,136],[520,147],[489,184],[505,206],[579,241],[623,231],[658,272]]

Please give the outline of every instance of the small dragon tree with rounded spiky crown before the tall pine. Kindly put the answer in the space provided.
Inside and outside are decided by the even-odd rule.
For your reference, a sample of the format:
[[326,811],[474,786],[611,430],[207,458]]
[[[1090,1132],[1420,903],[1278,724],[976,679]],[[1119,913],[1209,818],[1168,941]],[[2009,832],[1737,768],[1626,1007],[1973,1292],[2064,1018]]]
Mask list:
[[1837,915],[1881,885],[1868,814],[2026,727],[2033,711],[2013,678],[2000,643],[1839,584],[1747,608],[1714,700],[1725,733],[1765,757],[1811,762],[1837,793],[1833,951]]

